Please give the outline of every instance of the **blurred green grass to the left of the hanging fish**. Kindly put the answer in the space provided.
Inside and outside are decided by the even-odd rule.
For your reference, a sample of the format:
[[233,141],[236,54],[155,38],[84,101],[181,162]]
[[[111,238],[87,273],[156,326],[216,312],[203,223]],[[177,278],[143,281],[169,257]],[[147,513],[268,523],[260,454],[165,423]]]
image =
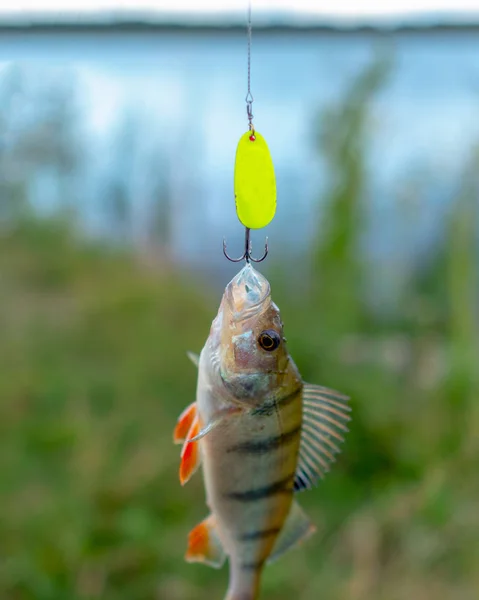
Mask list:
[[171,432],[211,308],[61,222],[0,246],[0,597],[194,597],[175,582],[203,507]]

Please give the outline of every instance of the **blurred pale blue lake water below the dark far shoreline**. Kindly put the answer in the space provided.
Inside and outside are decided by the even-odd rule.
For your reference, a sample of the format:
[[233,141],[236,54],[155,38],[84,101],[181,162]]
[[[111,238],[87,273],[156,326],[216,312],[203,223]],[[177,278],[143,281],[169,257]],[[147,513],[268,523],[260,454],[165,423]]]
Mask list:
[[[387,225],[395,218],[397,195],[409,180],[422,177],[430,200],[418,212],[417,243],[427,245],[434,235],[437,215],[479,137],[477,34],[263,31],[253,38],[252,90],[255,124],[268,140],[278,180],[278,213],[268,232],[273,247],[286,226],[288,252],[303,250],[315,234],[312,206],[328,183],[316,149],[317,117],[383,52],[392,52],[394,66],[371,123],[374,218],[368,244],[374,252],[391,249]],[[92,226],[105,227],[102,173],[114,166],[112,136],[129,115],[139,135],[135,164],[127,161],[131,173],[125,176],[136,182],[139,229],[148,217],[141,208],[147,177],[138,169],[149,156],[171,202],[173,255],[214,263],[222,260],[218,245],[224,234],[235,247],[241,244],[233,163],[246,128],[242,33],[12,31],[0,38],[0,60],[40,74],[66,68],[77,78],[87,139],[87,177],[78,196]],[[38,201],[47,196],[42,192]]]

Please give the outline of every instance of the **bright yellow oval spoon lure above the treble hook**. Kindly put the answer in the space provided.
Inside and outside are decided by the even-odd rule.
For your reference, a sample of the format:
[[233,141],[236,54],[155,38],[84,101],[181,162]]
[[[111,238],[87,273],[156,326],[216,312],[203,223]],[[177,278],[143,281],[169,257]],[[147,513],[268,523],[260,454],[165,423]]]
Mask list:
[[276,212],[274,166],[264,137],[257,131],[241,136],[236,148],[236,213],[249,229],[266,227]]

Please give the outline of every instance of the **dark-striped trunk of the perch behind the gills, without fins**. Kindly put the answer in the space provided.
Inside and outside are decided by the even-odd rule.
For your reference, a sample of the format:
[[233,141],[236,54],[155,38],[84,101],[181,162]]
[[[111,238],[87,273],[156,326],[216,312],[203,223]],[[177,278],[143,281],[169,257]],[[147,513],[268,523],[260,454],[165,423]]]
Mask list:
[[[261,571],[290,512],[301,389],[228,419],[200,441],[207,503],[230,562],[228,599],[256,598]],[[209,407],[212,398],[200,390],[200,420],[204,404]]]

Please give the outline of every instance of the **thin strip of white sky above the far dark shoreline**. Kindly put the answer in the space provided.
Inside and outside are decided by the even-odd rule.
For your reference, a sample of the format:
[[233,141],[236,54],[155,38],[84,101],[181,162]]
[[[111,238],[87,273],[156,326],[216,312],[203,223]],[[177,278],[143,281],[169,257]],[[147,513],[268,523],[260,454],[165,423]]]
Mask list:
[[[246,0],[11,0],[0,1],[0,12],[19,15],[28,12],[53,11],[61,14],[78,12],[141,12],[203,13],[225,16],[228,13],[243,13]],[[414,18],[424,14],[437,16],[446,13],[450,18],[479,15],[478,0],[336,0],[334,5],[314,0],[253,0],[253,9],[268,12],[287,12],[298,15],[315,15],[320,18],[362,20],[370,18]]]

